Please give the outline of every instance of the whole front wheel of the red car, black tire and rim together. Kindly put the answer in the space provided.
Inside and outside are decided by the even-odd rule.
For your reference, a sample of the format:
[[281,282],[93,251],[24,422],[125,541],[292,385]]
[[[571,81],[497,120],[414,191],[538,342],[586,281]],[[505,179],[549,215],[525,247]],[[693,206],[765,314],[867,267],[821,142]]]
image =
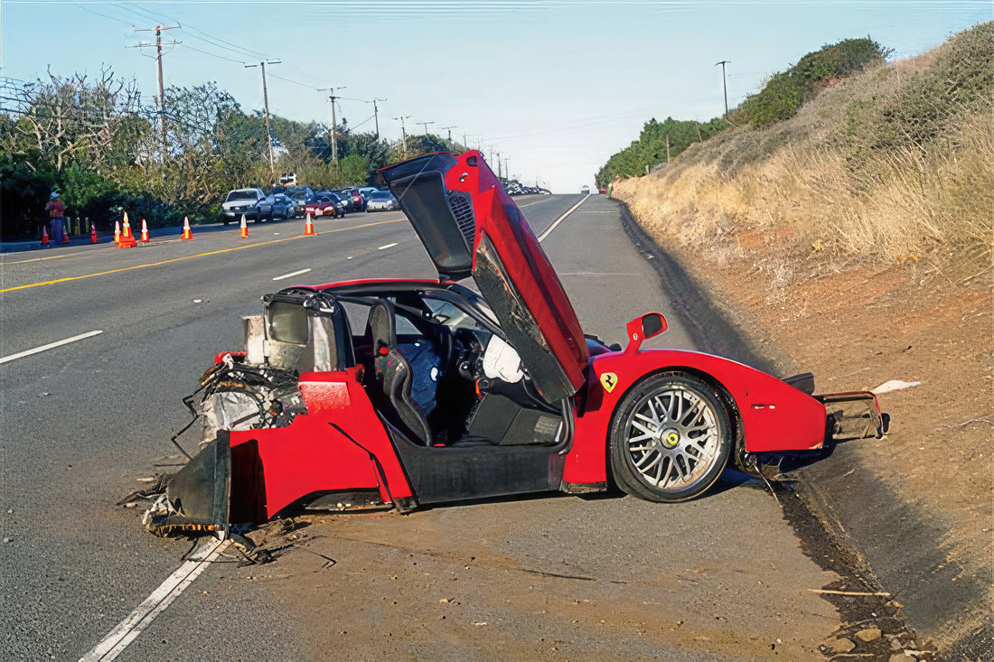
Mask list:
[[609,457],[618,487],[648,501],[700,496],[729,461],[732,422],[715,389],[686,373],[637,384],[611,420]]

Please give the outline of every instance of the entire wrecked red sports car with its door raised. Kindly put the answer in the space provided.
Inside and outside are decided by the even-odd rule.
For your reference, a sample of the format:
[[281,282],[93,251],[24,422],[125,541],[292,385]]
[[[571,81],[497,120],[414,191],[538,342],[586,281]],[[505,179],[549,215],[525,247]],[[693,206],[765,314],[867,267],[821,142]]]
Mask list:
[[657,312],[628,322],[624,347],[584,335],[479,152],[378,176],[438,279],[263,296],[263,314],[243,320],[245,348],[219,353],[185,401],[202,449],[146,512],[152,532],[612,485],[677,502],[706,492],[730,458],[754,472],[827,454],[843,406],[862,408],[864,433],[887,431],[873,394],[815,396],[810,375],[642,349],[666,331]]

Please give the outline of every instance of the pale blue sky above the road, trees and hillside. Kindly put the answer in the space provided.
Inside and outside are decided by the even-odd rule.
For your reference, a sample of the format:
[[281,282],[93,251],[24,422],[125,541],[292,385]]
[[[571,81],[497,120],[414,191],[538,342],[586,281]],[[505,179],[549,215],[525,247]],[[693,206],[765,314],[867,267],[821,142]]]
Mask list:
[[180,25],[163,33],[181,42],[164,51],[167,85],[216,81],[261,108],[259,70],[244,64],[279,60],[267,67],[272,113],[330,122],[317,88],[344,87],[338,116],[358,130],[373,130],[373,110],[355,99],[385,98],[385,137],[400,138],[402,115],[409,133],[454,126],[453,139],[508,157],[512,175],[572,192],[649,118],[721,115],[718,61],[731,61],[734,106],[824,44],[870,35],[909,57],[992,19],[990,0],[0,0],[0,75],[106,64],[150,99],[154,49],[129,47],[154,33],[135,29]]

